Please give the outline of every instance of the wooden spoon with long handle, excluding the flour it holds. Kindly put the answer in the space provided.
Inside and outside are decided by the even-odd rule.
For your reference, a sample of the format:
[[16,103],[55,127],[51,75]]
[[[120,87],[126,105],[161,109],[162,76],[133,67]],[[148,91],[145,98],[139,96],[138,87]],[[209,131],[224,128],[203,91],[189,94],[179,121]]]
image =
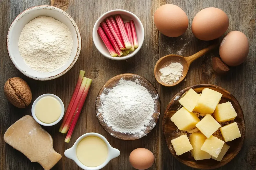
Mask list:
[[[157,61],[156,66],[155,66],[155,70],[154,70],[155,78],[156,78],[157,82],[162,84],[163,86],[167,86],[167,87],[171,87],[171,86],[175,86],[175,85],[179,84],[186,77],[190,64],[193,61],[195,61],[196,59],[198,59],[199,57],[204,56],[210,50],[216,48],[218,45],[219,44],[211,45],[207,48],[204,48],[204,49],[198,51],[196,54],[194,54],[192,56],[189,56],[189,57],[183,57],[183,56],[176,55],[176,54],[169,54],[167,56],[162,57],[161,59],[159,59]],[[167,67],[171,63],[175,63],[175,62],[179,62],[183,65],[183,72],[182,72],[183,76],[180,77],[180,79],[177,82],[173,83],[173,84],[166,84],[166,83],[162,82],[160,80],[160,77],[161,77],[160,69],[162,69],[164,67]]]

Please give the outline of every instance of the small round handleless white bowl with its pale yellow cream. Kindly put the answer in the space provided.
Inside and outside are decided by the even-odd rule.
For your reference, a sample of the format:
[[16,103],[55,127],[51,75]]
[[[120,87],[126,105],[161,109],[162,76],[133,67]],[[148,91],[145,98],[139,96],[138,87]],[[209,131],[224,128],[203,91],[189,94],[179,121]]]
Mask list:
[[43,126],[53,126],[64,116],[65,106],[62,100],[54,94],[39,96],[32,105],[32,116]]

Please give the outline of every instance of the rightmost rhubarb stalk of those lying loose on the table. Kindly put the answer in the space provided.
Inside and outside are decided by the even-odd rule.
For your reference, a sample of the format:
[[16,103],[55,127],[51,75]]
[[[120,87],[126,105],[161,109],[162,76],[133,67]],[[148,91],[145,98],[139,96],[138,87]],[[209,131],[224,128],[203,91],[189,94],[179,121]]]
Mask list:
[[79,106],[78,106],[78,108],[76,110],[76,115],[74,116],[74,119],[72,121],[72,124],[70,126],[70,129],[69,129],[68,134],[67,134],[66,139],[65,139],[65,142],[67,142],[67,143],[69,143],[69,141],[71,139],[71,136],[73,134],[74,128],[75,128],[75,126],[77,124],[77,121],[78,121],[78,118],[80,116],[81,110],[83,108],[84,102],[86,100],[86,97],[88,95],[89,89],[91,87],[91,84],[92,84],[92,79],[88,79],[88,81],[86,83],[86,87],[85,87],[85,89],[83,91],[83,95],[82,95],[82,98],[80,100]]

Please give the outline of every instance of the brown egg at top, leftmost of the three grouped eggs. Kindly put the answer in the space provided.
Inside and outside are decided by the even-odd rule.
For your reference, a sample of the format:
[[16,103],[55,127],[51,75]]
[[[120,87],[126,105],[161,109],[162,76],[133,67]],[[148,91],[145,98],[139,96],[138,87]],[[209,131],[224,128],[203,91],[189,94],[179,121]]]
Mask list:
[[176,5],[159,7],[154,15],[156,28],[168,37],[178,37],[188,29],[188,16]]

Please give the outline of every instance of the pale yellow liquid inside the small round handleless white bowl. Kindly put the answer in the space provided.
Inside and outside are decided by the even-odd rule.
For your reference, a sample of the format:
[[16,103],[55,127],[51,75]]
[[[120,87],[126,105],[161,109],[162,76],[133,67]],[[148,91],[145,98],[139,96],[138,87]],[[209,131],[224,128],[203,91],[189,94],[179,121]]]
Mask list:
[[61,105],[58,99],[52,96],[41,98],[35,106],[36,117],[44,123],[53,123],[61,115]]

